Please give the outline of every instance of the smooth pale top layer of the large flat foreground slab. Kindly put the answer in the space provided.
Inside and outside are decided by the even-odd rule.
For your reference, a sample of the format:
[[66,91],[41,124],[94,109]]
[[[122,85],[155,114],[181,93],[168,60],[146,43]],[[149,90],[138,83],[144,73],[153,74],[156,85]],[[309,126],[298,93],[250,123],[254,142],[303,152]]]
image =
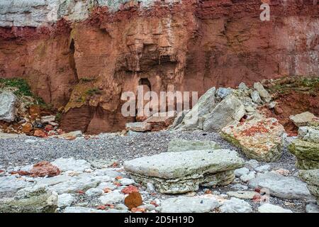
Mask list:
[[188,175],[216,173],[242,167],[234,150],[189,150],[161,153],[124,162],[125,171],[147,177],[176,179]]

